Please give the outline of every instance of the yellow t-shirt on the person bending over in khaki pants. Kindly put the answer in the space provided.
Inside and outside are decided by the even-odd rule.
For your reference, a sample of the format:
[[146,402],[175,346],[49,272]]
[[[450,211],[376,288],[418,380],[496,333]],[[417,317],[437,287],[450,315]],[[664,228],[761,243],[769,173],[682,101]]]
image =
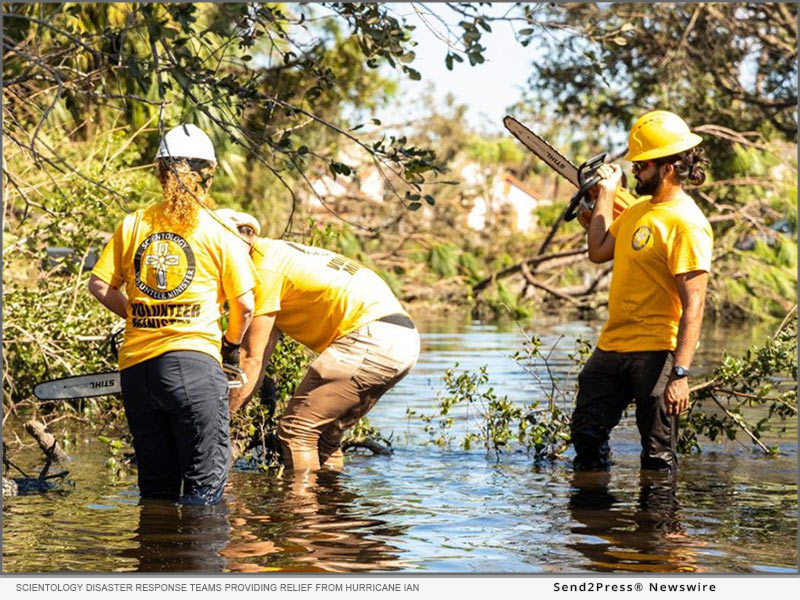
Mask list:
[[335,252],[258,238],[251,255],[254,314],[276,313],[276,327],[315,352],[370,321],[406,314],[383,279]]

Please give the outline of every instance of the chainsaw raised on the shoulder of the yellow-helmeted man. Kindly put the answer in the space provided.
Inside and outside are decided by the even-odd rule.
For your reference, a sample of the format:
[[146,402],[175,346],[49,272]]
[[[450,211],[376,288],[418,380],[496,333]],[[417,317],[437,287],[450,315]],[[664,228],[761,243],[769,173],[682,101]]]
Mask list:
[[[600,176],[597,175],[597,169],[600,165],[611,162],[614,157],[609,159],[609,153],[603,152],[602,154],[590,158],[580,166],[575,166],[575,163],[566,158],[545,139],[531,131],[514,117],[505,117],[503,119],[503,125],[505,125],[506,129],[522,142],[528,150],[541,158],[547,166],[578,188],[578,191],[572,196],[569,205],[564,211],[563,219],[565,221],[572,221],[578,215],[588,214],[591,216],[591,212],[594,209],[594,202],[589,196],[589,190],[600,181]],[[624,187],[620,187],[614,198],[614,218],[616,219],[626,208],[637,201],[638,200],[634,198],[628,190]],[[589,224],[586,218],[581,218],[579,221],[584,228]]]

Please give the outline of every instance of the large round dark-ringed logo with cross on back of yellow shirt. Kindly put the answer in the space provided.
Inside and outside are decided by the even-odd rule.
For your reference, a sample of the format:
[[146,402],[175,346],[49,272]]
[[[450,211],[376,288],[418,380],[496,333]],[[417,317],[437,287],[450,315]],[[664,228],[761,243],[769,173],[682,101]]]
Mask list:
[[156,300],[172,300],[192,283],[194,253],[176,233],[153,233],[136,249],[133,268],[140,292]]

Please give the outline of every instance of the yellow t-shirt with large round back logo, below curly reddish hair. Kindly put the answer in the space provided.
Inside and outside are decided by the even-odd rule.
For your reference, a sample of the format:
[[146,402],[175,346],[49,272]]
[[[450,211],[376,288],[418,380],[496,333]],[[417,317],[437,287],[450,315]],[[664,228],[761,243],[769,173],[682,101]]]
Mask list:
[[115,288],[125,284],[120,370],[172,350],[197,350],[221,361],[222,305],[256,283],[247,244],[205,210],[197,227],[182,235],[156,230],[158,211],[153,205],[127,215],[92,269]]

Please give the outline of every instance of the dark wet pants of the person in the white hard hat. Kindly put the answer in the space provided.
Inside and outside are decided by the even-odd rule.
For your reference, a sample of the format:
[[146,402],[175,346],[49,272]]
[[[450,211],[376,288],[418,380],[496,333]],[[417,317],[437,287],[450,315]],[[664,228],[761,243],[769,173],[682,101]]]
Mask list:
[[142,497],[219,502],[231,457],[219,363],[203,352],[167,352],[123,370],[120,380]]

